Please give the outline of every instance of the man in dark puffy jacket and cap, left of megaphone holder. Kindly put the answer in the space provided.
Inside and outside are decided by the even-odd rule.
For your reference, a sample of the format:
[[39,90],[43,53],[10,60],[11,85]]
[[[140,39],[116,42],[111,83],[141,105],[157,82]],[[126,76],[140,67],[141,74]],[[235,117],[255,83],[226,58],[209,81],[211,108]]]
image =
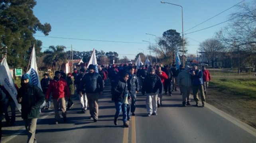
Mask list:
[[100,74],[95,72],[95,66],[89,65],[89,72],[83,76],[83,79],[80,84],[79,95],[83,94],[83,89],[88,98],[88,104],[90,109],[91,117],[94,122],[98,120],[98,96],[102,95],[103,91],[103,82]]

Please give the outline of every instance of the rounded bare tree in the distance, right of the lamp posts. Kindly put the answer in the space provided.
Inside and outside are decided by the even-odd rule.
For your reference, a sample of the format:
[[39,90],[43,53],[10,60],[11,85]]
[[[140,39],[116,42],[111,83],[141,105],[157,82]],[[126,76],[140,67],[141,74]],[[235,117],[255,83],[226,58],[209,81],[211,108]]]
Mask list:
[[211,38],[203,41],[199,45],[199,51],[205,53],[205,57],[207,57],[207,62],[211,61],[211,64],[214,66],[214,62],[216,61],[216,57],[219,52],[224,51],[225,47],[219,40]]

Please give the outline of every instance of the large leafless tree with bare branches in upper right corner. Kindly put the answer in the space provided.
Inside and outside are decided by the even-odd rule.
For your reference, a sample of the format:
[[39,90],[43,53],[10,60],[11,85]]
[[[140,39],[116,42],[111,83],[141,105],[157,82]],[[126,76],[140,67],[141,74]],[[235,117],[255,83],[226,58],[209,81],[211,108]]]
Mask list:
[[230,23],[217,33],[227,50],[240,53],[241,63],[256,63],[256,0],[237,6],[238,10],[230,15]]

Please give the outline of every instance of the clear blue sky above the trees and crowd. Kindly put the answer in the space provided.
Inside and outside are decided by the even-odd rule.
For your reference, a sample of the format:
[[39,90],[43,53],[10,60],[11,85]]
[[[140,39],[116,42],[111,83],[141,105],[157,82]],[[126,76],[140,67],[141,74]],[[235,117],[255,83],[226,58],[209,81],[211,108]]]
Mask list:
[[[188,33],[226,21],[232,12],[238,10],[237,8],[225,11],[187,31],[242,0],[163,1],[183,6],[184,33]],[[71,38],[40,37],[44,35],[37,32],[34,36],[43,42],[43,51],[51,45],[63,45],[67,47],[66,50],[71,50],[72,44],[73,50],[76,51],[90,51],[95,48],[104,52],[116,51],[119,58],[127,56],[129,59],[134,59],[143,50],[145,55],[149,55],[149,50],[147,50],[149,44],[142,40],[150,41],[152,44],[156,43],[155,37],[146,33],[161,37],[163,32],[169,29],[182,32],[181,8],[161,4],[160,0],[37,0],[33,11],[41,23],[51,24],[49,36]],[[215,32],[227,24],[223,23],[210,29],[185,34],[184,38],[188,41],[186,46],[188,53],[196,55],[200,42],[213,38]]]

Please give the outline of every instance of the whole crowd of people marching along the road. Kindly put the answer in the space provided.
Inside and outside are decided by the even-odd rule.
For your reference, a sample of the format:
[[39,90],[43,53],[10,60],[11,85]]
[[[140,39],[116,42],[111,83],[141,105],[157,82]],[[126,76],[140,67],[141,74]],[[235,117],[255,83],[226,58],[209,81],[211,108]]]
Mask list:
[[[98,72],[96,71],[98,68]],[[173,91],[180,89],[182,105],[190,104],[190,92],[192,89],[195,106],[199,106],[198,91],[201,95],[202,107],[205,106],[205,94],[209,81],[210,72],[196,65],[192,68],[182,66],[176,69],[176,65],[141,65],[113,64],[111,66],[95,67],[89,65],[88,69],[81,67],[79,71],[74,69],[73,73],[65,74],[63,71],[55,71],[53,79],[49,74],[43,74],[41,79],[42,91],[32,84],[30,76],[24,74],[21,77],[21,88],[18,89],[17,100],[22,105],[22,118],[28,133],[28,143],[36,142],[35,128],[39,117],[40,106],[46,101],[45,110],[51,110],[53,102],[55,112],[55,124],[61,122],[59,109],[63,122],[67,121],[67,109],[72,108],[75,96],[79,96],[81,113],[89,112],[94,122],[98,120],[98,98],[102,95],[106,80],[111,84],[112,101],[116,113],[114,114],[114,125],[118,124],[118,116],[122,112],[124,127],[129,127],[128,120],[136,115],[136,95],[141,92],[146,96],[146,110],[148,116],[157,115],[157,109],[162,106],[163,94],[172,96]],[[6,119],[8,126],[15,122],[15,104],[10,94],[0,84],[1,95],[1,122]],[[8,116],[8,105],[11,106],[12,116]],[[13,109],[14,108],[14,109]],[[14,110],[14,112],[13,112]],[[2,123],[1,123],[2,127]],[[1,133],[2,135],[2,133]]]

